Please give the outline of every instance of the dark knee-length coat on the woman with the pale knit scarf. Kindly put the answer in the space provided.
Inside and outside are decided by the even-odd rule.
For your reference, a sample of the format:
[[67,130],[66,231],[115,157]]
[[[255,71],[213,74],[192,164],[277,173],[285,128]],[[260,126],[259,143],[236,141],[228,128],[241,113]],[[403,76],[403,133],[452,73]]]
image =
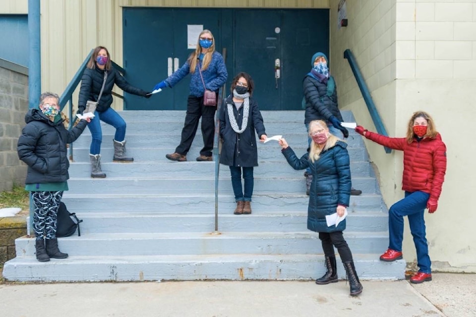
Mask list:
[[223,140],[222,152],[220,154],[220,163],[228,166],[252,167],[258,166],[258,151],[256,149],[256,133],[258,137],[266,134],[263,117],[259,112],[258,103],[249,98],[249,116],[248,124],[243,133],[236,133],[230,124],[230,117],[228,116],[228,105],[233,108],[233,113],[241,128],[243,121],[243,108],[241,106],[238,110],[233,102],[233,98],[228,97],[226,103],[220,108],[220,137]]

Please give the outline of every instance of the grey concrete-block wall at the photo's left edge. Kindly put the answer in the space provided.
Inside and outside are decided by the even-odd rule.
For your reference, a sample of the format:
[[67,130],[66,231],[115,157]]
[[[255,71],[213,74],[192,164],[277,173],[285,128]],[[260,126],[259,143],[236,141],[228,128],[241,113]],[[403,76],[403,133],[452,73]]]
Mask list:
[[26,68],[0,60],[0,191],[25,182],[26,165],[18,159],[16,144],[28,111],[26,73]]

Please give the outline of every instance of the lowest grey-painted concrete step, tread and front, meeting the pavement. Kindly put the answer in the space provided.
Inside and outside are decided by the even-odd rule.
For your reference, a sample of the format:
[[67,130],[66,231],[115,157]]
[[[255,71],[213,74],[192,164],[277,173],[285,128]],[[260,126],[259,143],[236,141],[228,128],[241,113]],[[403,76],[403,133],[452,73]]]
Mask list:
[[[360,280],[405,278],[405,262],[382,262],[380,254],[354,253]],[[337,274],[346,273],[339,257]],[[291,255],[77,256],[38,262],[19,256],[5,263],[3,277],[15,281],[314,280],[325,273],[324,257]],[[342,282],[345,283],[345,282]]]

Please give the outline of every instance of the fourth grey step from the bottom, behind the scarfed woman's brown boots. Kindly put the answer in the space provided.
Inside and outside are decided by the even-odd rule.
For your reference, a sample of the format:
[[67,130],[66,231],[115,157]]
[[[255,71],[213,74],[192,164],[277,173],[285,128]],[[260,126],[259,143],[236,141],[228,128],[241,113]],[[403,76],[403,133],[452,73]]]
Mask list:
[[[78,194],[72,191],[64,192],[62,201],[71,212],[83,215],[87,212],[114,212],[114,213],[215,213],[215,196],[208,194]],[[296,195],[255,192],[251,203],[254,214],[291,213],[307,211],[309,196],[304,192]],[[218,195],[218,211],[220,214],[230,213],[236,207],[233,194]],[[377,211],[386,214],[387,208],[378,194],[362,194],[351,196],[350,213]]]

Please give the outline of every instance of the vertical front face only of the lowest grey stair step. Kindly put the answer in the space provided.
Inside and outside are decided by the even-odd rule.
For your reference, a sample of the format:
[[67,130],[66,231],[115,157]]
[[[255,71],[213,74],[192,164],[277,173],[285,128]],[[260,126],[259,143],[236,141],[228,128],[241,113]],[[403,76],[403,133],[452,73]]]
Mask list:
[[[21,260],[21,258],[18,258]],[[71,259],[73,260],[73,259]],[[356,261],[361,280],[404,279],[405,263]],[[322,257],[310,261],[253,261],[240,262],[148,262],[98,263],[52,260],[46,265],[29,265],[28,270],[6,264],[3,276],[7,279],[29,281],[167,281],[167,280],[314,280],[325,273]],[[349,284],[343,281],[346,272],[337,264],[339,285],[343,291]],[[317,287],[316,286],[316,291]]]

